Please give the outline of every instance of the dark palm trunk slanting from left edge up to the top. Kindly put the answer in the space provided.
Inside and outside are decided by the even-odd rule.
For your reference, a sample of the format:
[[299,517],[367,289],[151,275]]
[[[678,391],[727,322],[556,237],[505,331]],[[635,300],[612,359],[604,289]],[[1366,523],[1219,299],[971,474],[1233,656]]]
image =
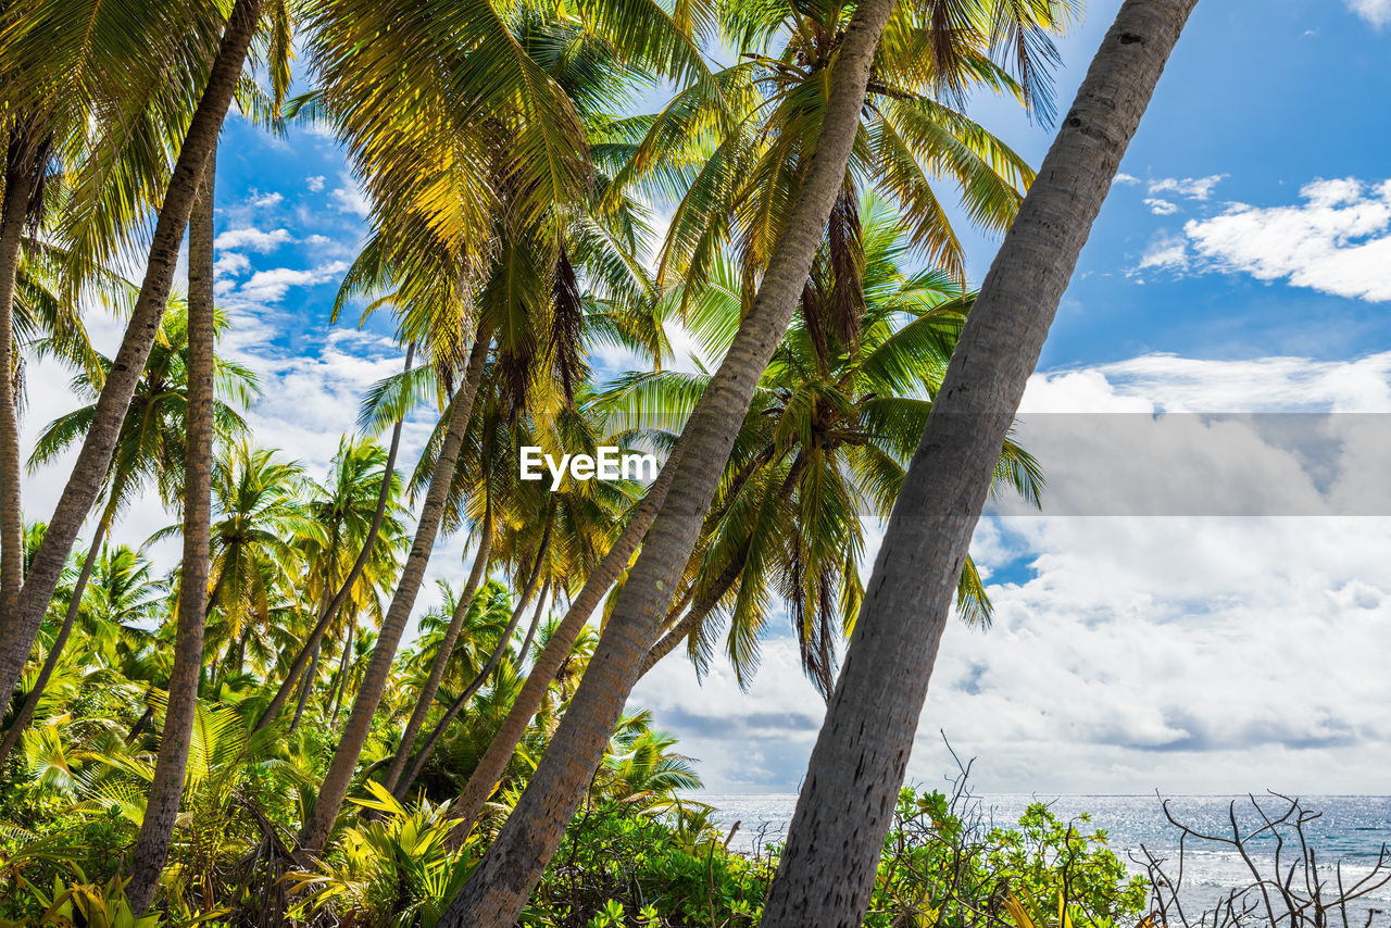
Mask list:
[[63,565],[68,559],[72,543],[86,519],[92,504],[102,490],[115,440],[131,405],[135,385],[145,370],[145,362],[154,345],[164,307],[168,303],[170,285],[174,281],[174,267],[178,263],[179,243],[188,225],[193,198],[203,178],[203,167],[217,146],[217,134],[232,102],[232,92],[242,74],[246,49],[256,32],[262,0],[236,0],[223,42],[213,61],[207,86],[199,100],[198,110],[189,122],[178,160],[170,175],[168,189],[160,205],[159,221],[150,241],[149,259],[140,294],[131,312],[121,348],[115,353],[106,385],[96,401],[92,426],[82,441],[77,463],[68,476],[58,505],[49,519],[49,530],[35,554],[19,598],[11,604],[0,604],[0,701],[10,698],[24,671],[24,662],[33,647],[53,590],[58,583]]

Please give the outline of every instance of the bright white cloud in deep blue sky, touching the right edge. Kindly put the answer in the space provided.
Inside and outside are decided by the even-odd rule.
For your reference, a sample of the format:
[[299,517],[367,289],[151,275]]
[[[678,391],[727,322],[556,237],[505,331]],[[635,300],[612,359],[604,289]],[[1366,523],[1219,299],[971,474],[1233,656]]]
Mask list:
[[1301,196],[1295,206],[1231,203],[1189,221],[1184,234],[1207,270],[1391,301],[1391,181],[1316,181]]

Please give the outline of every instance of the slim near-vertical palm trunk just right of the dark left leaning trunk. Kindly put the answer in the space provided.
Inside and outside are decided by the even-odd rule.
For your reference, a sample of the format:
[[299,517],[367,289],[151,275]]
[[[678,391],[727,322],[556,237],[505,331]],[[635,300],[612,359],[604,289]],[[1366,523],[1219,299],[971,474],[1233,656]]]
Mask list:
[[[235,14],[234,14],[235,15]],[[235,19],[234,19],[235,22]],[[248,38],[255,19],[248,24]],[[228,35],[232,25],[228,25]],[[238,57],[238,68],[241,56]],[[235,78],[235,75],[234,75]],[[216,136],[214,136],[216,138]],[[164,733],[154,761],[149,801],[140,836],[131,856],[127,888],[138,915],[150,907],[160,871],[168,856],[184,796],[184,774],[198,712],[198,682],[203,666],[203,627],[207,619],[209,547],[211,541],[213,480],[213,186],[216,150],[206,159],[206,173],[192,206],[188,230],[188,410],[184,448],[184,568],[179,579],[178,633],[170,672]]]

